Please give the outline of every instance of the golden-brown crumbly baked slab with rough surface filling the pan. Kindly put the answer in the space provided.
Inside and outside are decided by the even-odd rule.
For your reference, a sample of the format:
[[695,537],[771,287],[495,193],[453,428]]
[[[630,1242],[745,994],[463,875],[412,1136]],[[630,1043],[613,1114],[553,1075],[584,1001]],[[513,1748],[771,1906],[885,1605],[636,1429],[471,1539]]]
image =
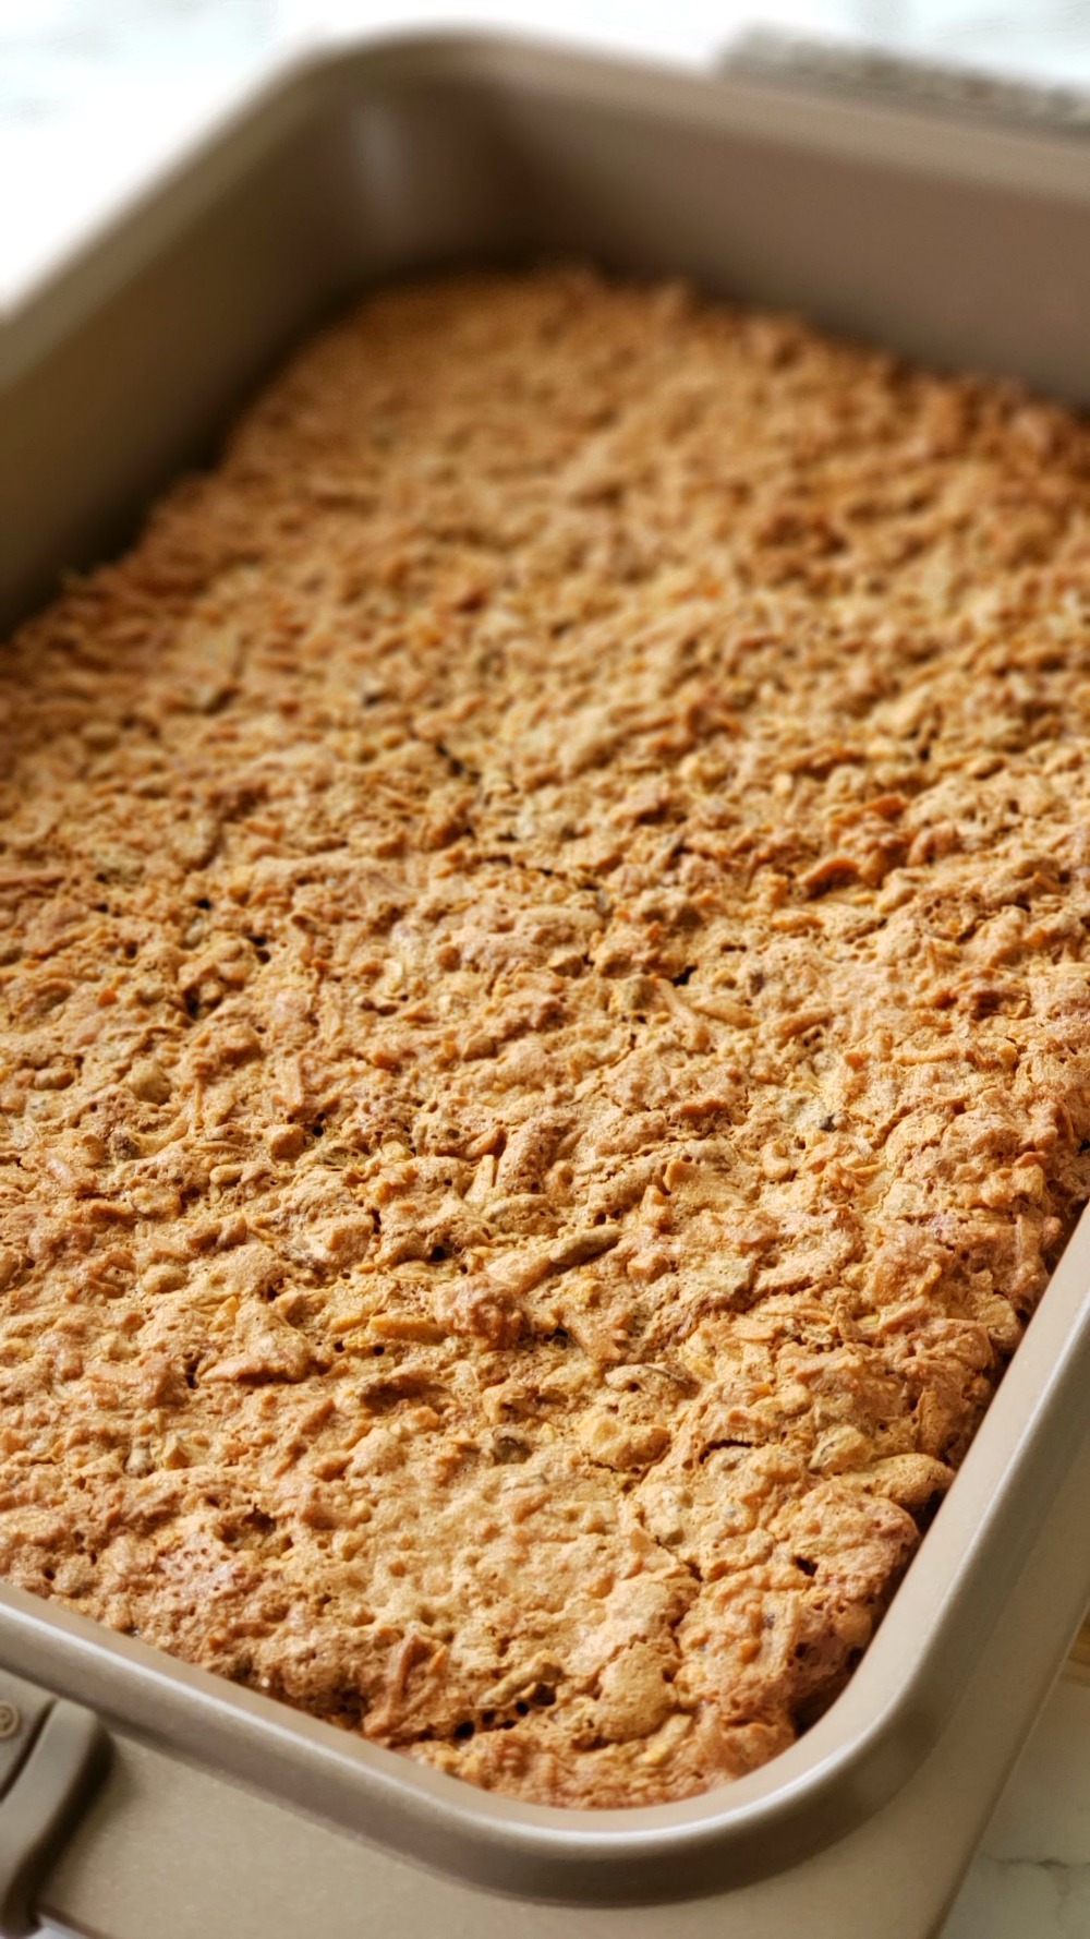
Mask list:
[[1090,1191],[1090,432],[367,301],[8,650],[0,1569],[524,1797],[842,1687]]

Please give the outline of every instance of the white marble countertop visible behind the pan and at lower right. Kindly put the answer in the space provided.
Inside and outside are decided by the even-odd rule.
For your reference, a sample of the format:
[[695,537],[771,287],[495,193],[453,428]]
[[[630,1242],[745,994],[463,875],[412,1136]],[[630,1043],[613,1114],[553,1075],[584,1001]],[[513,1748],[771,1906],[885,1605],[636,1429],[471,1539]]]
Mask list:
[[[0,302],[93,227],[285,43],[516,25],[685,62],[754,17],[1090,83],[1090,4],[1036,0],[0,0]],[[943,1939],[1088,1939],[1090,1681],[1063,1677]],[[875,1927],[875,1939],[881,1929]]]

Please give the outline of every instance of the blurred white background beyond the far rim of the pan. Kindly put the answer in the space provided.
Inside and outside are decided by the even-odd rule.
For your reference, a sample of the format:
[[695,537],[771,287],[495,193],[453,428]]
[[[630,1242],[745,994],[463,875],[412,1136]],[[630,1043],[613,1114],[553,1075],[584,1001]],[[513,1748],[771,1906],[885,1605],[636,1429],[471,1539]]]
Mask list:
[[0,302],[291,48],[427,25],[687,64],[760,25],[1090,87],[1090,0],[0,0]]

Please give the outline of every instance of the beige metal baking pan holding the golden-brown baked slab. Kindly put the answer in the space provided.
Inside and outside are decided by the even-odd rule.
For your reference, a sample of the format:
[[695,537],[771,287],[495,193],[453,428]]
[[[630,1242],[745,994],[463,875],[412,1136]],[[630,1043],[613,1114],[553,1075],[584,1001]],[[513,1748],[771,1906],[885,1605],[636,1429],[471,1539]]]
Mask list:
[[[1090,399],[1090,145],[1076,136],[495,39],[374,43],[262,83],[17,302],[0,365],[6,617],[124,541],[149,494],[213,452],[227,413],[337,301],[405,270],[541,254],[685,273],[939,365]],[[518,1894],[520,1922],[543,1939],[605,1939],[632,1922],[656,1939],[758,1939],[789,1914],[851,1939],[875,1929],[867,1892],[890,1875],[890,1838],[902,1850],[908,1836],[908,1896],[881,1923],[890,1939],[923,1935],[1090,1598],[1073,1493],[1090,1474],[1088,1282],[1084,1218],[844,1695],[762,1770],[683,1803],[592,1813],[475,1792],[2,1590],[0,1662],[97,1712],[116,1743],[114,1776],[45,1902],[72,1929],[136,1933],[111,1842],[128,1825],[144,1912],[147,1881],[173,1877],[155,1923],[188,1931],[178,1906],[202,1904],[190,1832],[217,1799],[213,1823],[242,1844],[231,1887],[231,1867],[211,1865],[223,1918],[202,1914],[204,1931],[242,1929],[266,1877],[244,1827],[260,1823],[268,1877],[277,1854],[306,1848],[301,1865],[341,1865],[345,1889],[374,1889],[382,1918],[421,1933],[440,1904],[448,1929],[498,1933],[512,1908],[491,1894]],[[976,1724],[954,1737],[954,1716]],[[960,1770],[958,1805],[935,1790],[943,1759]],[[112,1852],[105,1898],[95,1836]],[[438,1896],[421,1865],[446,1875]],[[407,1883],[382,1898],[392,1877]],[[832,1879],[836,1923],[815,1923],[818,1877]],[[270,1939],[301,1929],[289,1900],[277,1898],[279,1927],[266,1920]],[[337,1933],[372,1925],[365,1902],[337,1894],[330,1931],[334,1916]]]

